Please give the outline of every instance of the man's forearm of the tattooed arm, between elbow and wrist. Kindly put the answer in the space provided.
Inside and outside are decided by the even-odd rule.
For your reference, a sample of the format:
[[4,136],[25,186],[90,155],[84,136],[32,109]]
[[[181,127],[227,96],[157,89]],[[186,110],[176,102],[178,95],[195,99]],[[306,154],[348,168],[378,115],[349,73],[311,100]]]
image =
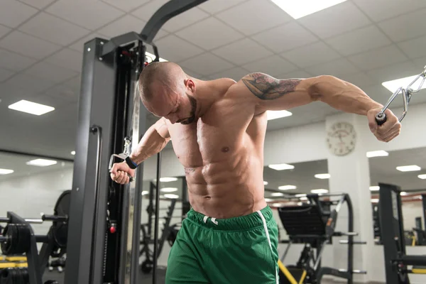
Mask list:
[[317,77],[312,92],[321,102],[351,114],[366,115],[370,109],[383,107],[359,87],[333,76]]

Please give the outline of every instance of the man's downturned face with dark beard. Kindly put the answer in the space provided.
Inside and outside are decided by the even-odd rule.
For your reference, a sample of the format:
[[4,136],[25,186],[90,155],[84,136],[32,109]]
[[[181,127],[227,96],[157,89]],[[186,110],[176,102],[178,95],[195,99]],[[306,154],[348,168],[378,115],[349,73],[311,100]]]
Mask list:
[[158,87],[154,97],[145,107],[155,116],[165,117],[172,124],[191,124],[195,121],[197,100],[185,92],[178,93],[172,89]]

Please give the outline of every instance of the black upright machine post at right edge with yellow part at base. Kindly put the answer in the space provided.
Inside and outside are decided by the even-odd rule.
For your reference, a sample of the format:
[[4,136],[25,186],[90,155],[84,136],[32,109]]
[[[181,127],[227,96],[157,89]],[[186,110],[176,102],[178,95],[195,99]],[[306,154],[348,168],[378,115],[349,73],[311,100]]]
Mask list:
[[[379,183],[379,218],[385,255],[386,284],[410,284],[408,274],[426,274],[426,256],[405,253],[400,187]],[[413,268],[409,268],[413,266]]]

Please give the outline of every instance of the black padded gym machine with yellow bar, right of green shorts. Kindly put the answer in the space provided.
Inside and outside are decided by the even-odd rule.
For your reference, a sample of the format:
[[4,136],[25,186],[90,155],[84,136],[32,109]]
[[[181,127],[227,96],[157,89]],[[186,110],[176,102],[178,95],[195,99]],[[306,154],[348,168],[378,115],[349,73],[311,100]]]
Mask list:
[[[278,208],[281,222],[290,238],[285,253],[278,261],[280,267],[280,284],[321,283],[324,275],[344,278],[348,284],[353,283],[355,273],[366,271],[354,270],[354,244],[366,244],[365,241],[354,241],[354,212],[351,198],[343,194],[305,195],[307,203],[297,206]],[[288,196],[294,199],[294,196]],[[325,199],[325,200],[324,200]],[[348,208],[348,232],[335,231],[337,216],[342,205]],[[332,209],[334,207],[334,209]],[[322,252],[325,244],[332,244],[333,237],[347,236],[340,244],[347,245],[347,267],[336,269],[321,266]],[[284,266],[291,244],[305,244],[295,266]]]

